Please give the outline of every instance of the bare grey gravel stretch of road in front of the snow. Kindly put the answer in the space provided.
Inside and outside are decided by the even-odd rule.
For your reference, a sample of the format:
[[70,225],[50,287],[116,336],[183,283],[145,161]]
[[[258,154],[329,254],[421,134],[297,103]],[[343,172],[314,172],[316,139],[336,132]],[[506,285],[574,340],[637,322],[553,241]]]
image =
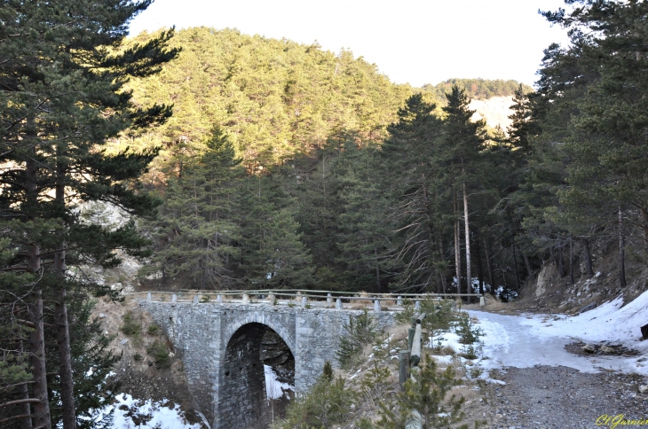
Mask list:
[[603,415],[648,419],[648,394],[638,391],[648,380],[636,375],[535,366],[508,367],[494,371],[494,376],[506,385],[489,384],[482,390],[485,417],[492,428],[612,427],[612,421],[597,425]]

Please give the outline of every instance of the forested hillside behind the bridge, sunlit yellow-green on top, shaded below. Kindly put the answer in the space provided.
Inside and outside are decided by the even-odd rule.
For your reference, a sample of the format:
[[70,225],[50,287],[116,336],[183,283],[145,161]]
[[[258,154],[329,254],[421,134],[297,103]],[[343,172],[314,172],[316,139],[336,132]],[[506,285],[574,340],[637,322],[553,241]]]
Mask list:
[[[178,59],[130,88],[140,103],[173,103],[173,116],[117,142],[162,147],[146,175],[164,204],[146,225],[157,246],[142,275],[206,288],[396,285],[397,197],[380,147],[407,98],[440,106],[444,93],[395,85],[350,51],[236,30],[189,28],[170,45]],[[457,83],[481,95],[518,88]]]

